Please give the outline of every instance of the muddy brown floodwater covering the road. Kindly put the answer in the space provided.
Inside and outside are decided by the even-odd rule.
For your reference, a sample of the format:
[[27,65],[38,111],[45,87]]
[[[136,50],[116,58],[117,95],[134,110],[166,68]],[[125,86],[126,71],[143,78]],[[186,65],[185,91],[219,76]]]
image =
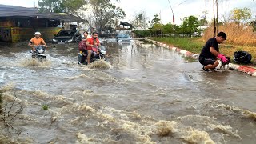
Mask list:
[[202,72],[149,42],[104,41],[106,61],[78,65],[78,45],[0,45],[0,143],[256,142],[256,78]]

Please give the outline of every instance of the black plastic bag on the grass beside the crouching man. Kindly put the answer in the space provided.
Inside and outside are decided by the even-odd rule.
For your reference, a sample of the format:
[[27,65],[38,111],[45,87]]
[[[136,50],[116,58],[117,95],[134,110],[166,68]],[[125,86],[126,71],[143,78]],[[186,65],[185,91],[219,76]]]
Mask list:
[[251,60],[251,54],[247,51],[236,51],[234,52],[234,62],[248,64]]

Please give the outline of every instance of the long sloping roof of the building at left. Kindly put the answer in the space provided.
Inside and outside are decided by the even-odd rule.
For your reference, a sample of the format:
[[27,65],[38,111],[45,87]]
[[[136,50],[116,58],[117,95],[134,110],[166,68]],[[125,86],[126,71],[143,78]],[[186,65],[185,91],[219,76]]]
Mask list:
[[65,22],[82,22],[81,18],[78,18],[71,14],[66,13],[39,13],[37,8],[28,8],[22,6],[9,6],[0,4],[0,18],[7,17],[30,17],[30,18],[46,18],[54,19]]

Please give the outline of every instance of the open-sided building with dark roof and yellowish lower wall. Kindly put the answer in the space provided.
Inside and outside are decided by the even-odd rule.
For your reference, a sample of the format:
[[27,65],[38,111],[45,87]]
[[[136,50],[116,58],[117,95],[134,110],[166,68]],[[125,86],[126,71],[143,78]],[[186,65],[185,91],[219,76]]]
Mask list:
[[82,21],[66,13],[38,13],[36,8],[0,5],[0,41],[28,41],[35,31],[40,31],[42,38],[50,41],[65,23]]

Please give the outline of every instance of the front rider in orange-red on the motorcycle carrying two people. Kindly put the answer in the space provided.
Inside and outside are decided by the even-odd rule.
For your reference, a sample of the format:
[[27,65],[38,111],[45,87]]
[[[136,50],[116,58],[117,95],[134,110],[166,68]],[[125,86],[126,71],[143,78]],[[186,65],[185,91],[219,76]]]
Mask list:
[[95,46],[101,46],[99,40],[98,40],[98,33],[94,32],[92,38],[88,38],[86,42],[86,50],[87,50],[87,64],[90,64],[90,58],[93,54],[93,47]]

